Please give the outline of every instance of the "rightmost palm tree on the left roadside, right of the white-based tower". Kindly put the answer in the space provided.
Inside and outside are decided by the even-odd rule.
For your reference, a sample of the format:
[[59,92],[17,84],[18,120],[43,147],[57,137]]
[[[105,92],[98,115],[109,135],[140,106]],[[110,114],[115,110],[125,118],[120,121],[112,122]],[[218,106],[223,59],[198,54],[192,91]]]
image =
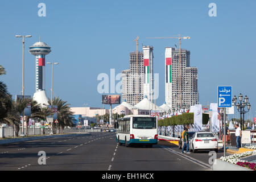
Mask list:
[[60,127],[62,131],[64,130],[65,126],[74,126],[73,124],[73,117],[72,114],[73,112],[71,111],[69,105],[67,104],[67,101],[61,100],[59,97],[54,97],[53,99],[53,105],[57,106],[57,121],[59,123],[54,123],[53,122],[53,133],[56,133],[55,128],[57,127],[57,133],[60,133]]

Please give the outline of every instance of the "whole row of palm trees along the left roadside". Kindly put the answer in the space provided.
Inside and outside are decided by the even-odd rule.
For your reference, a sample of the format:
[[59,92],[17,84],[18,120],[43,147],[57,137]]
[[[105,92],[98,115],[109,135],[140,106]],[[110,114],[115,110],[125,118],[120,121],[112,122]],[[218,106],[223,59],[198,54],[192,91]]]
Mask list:
[[[2,65],[0,65],[0,76],[1,75],[6,75],[5,68],[3,68]],[[33,119],[35,122],[46,121],[47,116],[53,114],[52,109],[48,108],[46,105],[41,106],[33,99],[17,98],[16,101],[13,100],[11,94],[7,90],[6,84],[0,81],[0,123],[13,126],[15,137],[18,137],[20,129],[20,115],[28,104],[31,105],[31,115],[24,118],[26,127],[28,127],[29,119]],[[48,100],[48,104],[51,105],[51,101]],[[72,122],[73,113],[69,107],[70,104],[68,104],[67,101],[61,100],[59,97],[55,97],[53,99],[53,105],[57,105],[57,121],[59,122],[53,122],[53,134],[59,134],[60,129],[63,131],[65,126],[74,126]],[[42,130],[44,133],[44,129]],[[26,130],[26,135],[27,131],[28,130]]]

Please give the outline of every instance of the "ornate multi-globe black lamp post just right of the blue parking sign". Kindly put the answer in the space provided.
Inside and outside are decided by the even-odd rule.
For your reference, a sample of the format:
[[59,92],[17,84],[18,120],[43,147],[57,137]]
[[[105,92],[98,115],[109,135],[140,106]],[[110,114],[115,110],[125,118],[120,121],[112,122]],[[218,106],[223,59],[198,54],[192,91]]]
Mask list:
[[[240,113],[241,130],[245,130],[245,126],[244,126],[245,113],[250,111],[251,105],[250,105],[250,102],[248,102],[249,98],[247,96],[245,96],[245,98],[243,99],[243,95],[240,93],[238,98],[239,98],[239,102],[237,102],[236,96],[233,97],[232,102],[234,103],[234,105],[236,105],[237,111]],[[247,107],[247,110],[245,110],[245,107]],[[243,118],[242,118],[242,115],[243,115]]]

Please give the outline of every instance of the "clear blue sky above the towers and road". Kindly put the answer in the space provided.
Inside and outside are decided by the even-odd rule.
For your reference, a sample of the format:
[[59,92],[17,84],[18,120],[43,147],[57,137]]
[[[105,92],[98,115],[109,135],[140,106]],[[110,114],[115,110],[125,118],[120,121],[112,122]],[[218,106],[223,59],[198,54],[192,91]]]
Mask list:
[[[38,16],[38,4],[46,3],[46,17]],[[210,17],[209,3],[216,3],[217,17]],[[26,39],[25,94],[35,92],[35,57],[28,47],[41,41],[52,47],[47,61],[57,60],[54,93],[71,106],[101,106],[97,76],[129,68],[129,52],[139,36],[143,45],[154,47],[154,72],[159,73],[159,98],[164,102],[164,48],[176,39],[154,36],[191,36],[181,47],[191,51],[191,66],[199,69],[199,102],[217,102],[217,86],[232,85],[233,96],[249,97],[254,116],[256,1],[1,1],[1,76],[13,95],[22,90],[22,39]],[[46,65],[46,90],[51,97],[51,66]],[[247,114],[246,114],[247,115]]]

